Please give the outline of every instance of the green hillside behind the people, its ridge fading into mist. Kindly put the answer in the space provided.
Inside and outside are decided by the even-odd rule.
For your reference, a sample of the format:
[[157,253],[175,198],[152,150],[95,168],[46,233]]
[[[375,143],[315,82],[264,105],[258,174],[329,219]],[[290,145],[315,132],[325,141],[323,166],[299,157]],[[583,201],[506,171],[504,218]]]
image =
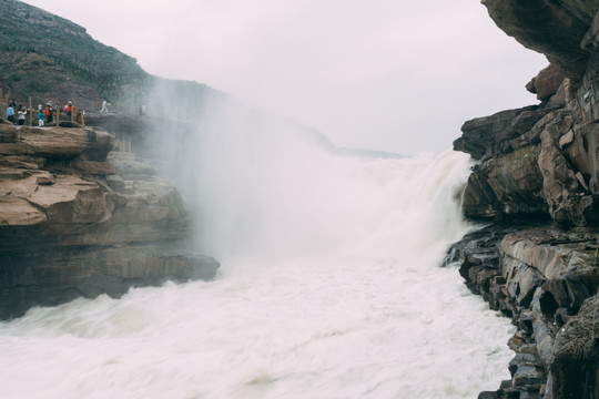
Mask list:
[[[248,108],[205,84],[151,75],[134,58],[94,40],[84,28],[18,0],[0,0],[0,90],[2,110],[9,101],[27,106],[31,96],[33,108],[72,101],[90,116],[106,100],[120,115],[139,115],[143,106],[145,115],[161,120],[203,121],[197,125],[204,133],[234,117],[244,121],[243,134],[258,134],[257,126],[266,123],[334,147],[314,129]],[[133,131],[119,129],[125,135]],[[144,135],[162,133],[151,129]]]

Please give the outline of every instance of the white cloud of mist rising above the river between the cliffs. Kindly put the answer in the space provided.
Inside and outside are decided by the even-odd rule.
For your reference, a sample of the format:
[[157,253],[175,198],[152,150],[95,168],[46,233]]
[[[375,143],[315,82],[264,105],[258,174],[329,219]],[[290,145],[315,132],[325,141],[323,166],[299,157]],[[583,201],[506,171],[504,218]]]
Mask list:
[[[163,83],[152,103],[184,98]],[[444,248],[439,231],[465,232],[456,192],[468,174],[466,154],[342,155],[317,132],[230,98],[195,103],[199,112],[165,123],[152,140],[156,155],[174,165],[167,177],[187,202],[195,250],[222,260],[393,256]]]

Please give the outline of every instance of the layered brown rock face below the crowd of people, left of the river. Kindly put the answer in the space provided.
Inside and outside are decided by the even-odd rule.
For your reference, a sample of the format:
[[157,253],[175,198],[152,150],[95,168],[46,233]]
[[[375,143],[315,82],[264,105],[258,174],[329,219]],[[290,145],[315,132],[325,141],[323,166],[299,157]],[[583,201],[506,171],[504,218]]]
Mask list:
[[183,253],[177,191],[112,146],[92,129],[0,124],[0,317],[214,276],[216,260]]

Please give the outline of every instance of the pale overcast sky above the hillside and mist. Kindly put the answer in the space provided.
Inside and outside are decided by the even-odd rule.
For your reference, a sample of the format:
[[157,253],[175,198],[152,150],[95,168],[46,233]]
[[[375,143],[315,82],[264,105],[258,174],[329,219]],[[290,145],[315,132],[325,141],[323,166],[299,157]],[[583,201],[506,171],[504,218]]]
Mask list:
[[450,147],[469,119],[538,103],[548,62],[478,0],[27,0],[164,78],[195,80],[339,146]]

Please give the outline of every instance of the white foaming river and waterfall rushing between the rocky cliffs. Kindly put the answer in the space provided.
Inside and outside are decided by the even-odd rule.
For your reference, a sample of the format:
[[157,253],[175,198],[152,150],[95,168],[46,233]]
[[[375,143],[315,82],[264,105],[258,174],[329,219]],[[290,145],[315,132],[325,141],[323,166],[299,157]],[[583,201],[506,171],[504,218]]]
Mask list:
[[464,154],[243,156],[197,176],[215,280],[0,324],[0,396],[476,398],[509,377],[509,320],[439,267],[471,228]]

